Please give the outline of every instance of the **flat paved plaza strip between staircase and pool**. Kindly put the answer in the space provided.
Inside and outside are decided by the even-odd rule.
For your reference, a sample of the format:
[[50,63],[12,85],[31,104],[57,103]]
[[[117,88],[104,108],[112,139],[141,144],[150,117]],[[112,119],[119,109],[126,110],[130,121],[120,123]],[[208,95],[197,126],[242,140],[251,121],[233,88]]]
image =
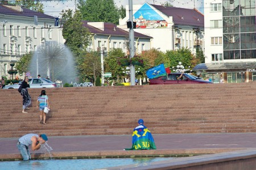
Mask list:
[[[124,151],[131,147],[131,135],[86,135],[48,137],[53,157],[215,154],[256,148],[256,133],[220,134],[153,134],[156,150]],[[0,138],[0,159],[21,159],[16,142],[18,138]],[[46,158],[42,150],[31,151],[32,158]],[[33,156],[34,155],[34,156]],[[93,158],[93,157],[92,157]]]

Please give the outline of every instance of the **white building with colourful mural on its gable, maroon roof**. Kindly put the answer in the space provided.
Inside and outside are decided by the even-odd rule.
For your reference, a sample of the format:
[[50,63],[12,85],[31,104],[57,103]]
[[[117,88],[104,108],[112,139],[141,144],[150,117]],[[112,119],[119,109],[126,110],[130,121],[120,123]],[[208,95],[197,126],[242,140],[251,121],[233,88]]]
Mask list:
[[[126,17],[119,19],[119,28],[126,29],[129,21],[129,6]],[[137,23],[134,32],[153,37],[152,48],[175,50],[188,48],[204,50],[204,15],[196,9],[164,7],[160,5],[133,6],[133,21]]]

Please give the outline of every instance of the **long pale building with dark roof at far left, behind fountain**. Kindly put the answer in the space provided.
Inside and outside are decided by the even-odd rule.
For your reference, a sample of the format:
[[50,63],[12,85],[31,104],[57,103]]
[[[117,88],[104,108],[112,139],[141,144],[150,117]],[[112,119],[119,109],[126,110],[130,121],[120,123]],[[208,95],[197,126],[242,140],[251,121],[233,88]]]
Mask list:
[[64,44],[62,28],[55,27],[53,16],[20,6],[0,5],[0,77],[9,77],[10,63],[47,41]]

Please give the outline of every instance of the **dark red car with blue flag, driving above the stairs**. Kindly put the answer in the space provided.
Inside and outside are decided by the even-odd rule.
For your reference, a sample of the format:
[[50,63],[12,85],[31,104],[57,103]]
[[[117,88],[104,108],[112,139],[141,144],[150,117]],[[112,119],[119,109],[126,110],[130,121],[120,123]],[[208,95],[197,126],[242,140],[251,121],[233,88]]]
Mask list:
[[183,73],[180,80],[177,78],[181,73],[171,73],[164,76],[159,76],[158,78],[150,79],[149,84],[192,84],[192,83],[213,83],[206,80],[197,78],[196,76]]

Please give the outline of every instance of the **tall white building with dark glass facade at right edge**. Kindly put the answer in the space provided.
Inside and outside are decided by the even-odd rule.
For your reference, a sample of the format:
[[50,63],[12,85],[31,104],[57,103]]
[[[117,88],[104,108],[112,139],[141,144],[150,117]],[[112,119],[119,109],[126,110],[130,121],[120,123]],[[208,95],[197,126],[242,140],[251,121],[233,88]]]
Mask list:
[[205,70],[218,82],[256,81],[255,1],[204,1],[205,63],[195,67]]

